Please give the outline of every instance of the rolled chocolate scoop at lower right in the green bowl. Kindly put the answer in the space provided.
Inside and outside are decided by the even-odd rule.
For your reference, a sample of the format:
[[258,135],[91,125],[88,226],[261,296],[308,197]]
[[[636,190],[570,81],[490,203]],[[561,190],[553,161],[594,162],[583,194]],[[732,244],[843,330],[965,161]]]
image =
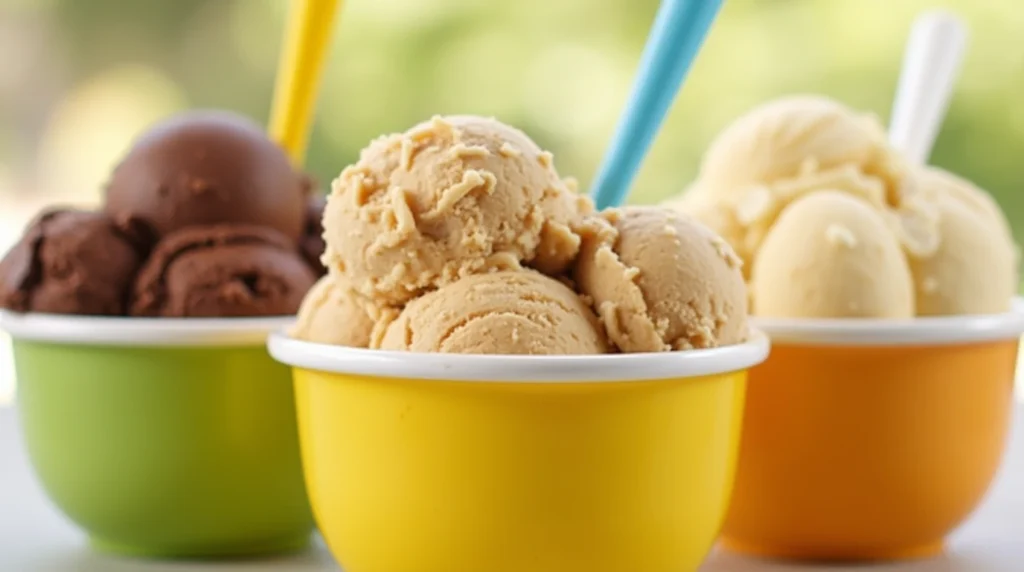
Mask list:
[[294,314],[315,281],[295,244],[280,232],[193,227],[157,245],[135,280],[130,311],[165,317]]

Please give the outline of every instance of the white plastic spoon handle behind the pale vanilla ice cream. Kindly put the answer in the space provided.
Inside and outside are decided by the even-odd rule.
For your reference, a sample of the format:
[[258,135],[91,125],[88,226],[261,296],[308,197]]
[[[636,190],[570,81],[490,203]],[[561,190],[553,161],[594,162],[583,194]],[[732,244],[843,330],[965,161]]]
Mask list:
[[889,141],[915,164],[927,163],[932,153],[966,46],[967,27],[951,12],[925,12],[910,29]]

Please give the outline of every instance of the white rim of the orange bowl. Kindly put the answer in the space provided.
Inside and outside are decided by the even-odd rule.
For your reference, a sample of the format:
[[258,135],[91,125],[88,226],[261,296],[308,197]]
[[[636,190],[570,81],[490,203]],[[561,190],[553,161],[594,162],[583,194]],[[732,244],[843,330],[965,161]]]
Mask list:
[[1013,340],[1024,334],[1024,299],[1009,312],[909,319],[758,318],[775,344],[805,346],[940,346]]

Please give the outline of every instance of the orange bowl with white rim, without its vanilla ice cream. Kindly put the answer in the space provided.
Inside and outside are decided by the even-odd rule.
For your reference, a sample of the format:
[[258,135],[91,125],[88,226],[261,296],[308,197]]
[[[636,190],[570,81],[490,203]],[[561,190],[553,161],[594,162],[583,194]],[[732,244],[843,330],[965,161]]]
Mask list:
[[999,467],[1024,310],[759,319],[726,547],[816,561],[940,553]]

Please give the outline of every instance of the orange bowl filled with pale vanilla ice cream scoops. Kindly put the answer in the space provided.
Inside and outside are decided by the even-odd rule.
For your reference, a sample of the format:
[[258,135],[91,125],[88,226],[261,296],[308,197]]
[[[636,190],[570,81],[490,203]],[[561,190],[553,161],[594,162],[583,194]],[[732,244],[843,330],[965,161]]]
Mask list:
[[798,95],[735,120],[667,206],[735,248],[773,345],[751,371],[724,544],[798,560],[940,552],[1010,426],[1024,312],[997,204],[904,162],[873,116]]

